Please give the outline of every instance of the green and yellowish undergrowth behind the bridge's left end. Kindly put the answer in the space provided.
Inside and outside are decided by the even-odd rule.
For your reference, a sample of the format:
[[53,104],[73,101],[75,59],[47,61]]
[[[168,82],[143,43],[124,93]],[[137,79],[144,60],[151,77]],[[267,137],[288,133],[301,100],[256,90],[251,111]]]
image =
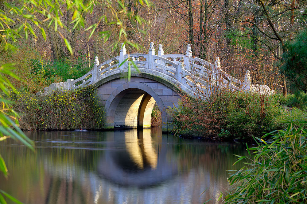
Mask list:
[[92,67],[88,67],[82,59],[61,59],[50,61],[45,53],[38,53],[27,45],[19,46],[16,52],[10,50],[0,55],[0,63],[14,63],[14,74],[20,80],[10,77],[11,83],[19,90],[37,93],[43,91],[54,82],[64,82],[77,79],[86,74]]

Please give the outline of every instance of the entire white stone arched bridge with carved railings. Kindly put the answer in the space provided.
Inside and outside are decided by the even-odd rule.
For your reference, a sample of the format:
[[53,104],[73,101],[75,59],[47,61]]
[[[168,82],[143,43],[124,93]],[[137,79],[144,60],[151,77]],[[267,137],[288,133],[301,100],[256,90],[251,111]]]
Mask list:
[[177,106],[179,92],[203,99],[210,98],[219,89],[274,94],[274,90],[266,85],[252,84],[249,71],[243,81],[228,75],[220,69],[219,57],[214,64],[192,57],[190,45],[185,55],[164,54],[162,45],[157,54],[153,43],[150,43],[148,54],[126,54],[122,43],[120,56],[101,64],[96,57],[94,68],[84,76],[52,83],[45,87],[45,92],[37,95],[48,95],[56,88],[73,90],[95,85],[105,107],[107,128],[150,127],[151,112],[157,104],[162,129],[168,131],[172,128],[168,110]]

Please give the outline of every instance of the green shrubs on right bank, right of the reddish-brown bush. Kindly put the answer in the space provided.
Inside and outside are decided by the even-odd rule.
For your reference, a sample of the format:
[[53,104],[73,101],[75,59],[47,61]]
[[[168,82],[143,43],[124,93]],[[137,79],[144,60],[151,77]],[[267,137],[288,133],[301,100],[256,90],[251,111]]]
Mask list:
[[[285,97],[281,97],[285,100]],[[307,114],[297,108],[280,106],[277,96],[258,97],[256,94],[238,94],[226,108],[225,123],[233,137],[251,139],[264,132],[285,129],[285,119],[306,120]],[[284,101],[286,102],[286,101]]]

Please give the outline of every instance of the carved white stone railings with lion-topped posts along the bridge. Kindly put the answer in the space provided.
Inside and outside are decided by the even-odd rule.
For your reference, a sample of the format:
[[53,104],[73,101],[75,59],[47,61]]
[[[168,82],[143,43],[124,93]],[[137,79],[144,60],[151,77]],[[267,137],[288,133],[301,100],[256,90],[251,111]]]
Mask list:
[[108,76],[128,72],[129,67],[130,71],[144,72],[163,77],[193,97],[195,97],[196,89],[202,91],[207,89],[208,91],[212,85],[227,88],[231,91],[242,90],[274,94],[274,90],[271,90],[266,85],[252,84],[249,71],[246,72],[243,81],[227,74],[221,69],[219,57],[216,57],[214,64],[198,57],[192,57],[191,45],[188,45],[185,55],[165,55],[160,44],[157,55],[155,55],[153,43],[150,43],[148,54],[127,54],[125,45],[122,43],[119,56],[103,63],[99,63],[98,57],[95,57],[93,69],[84,76],[76,80],[69,79],[67,82],[52,83],[49,87],[44,88],[45,92],[42,93],[40,91],[37,95],[46,96],[56,88],[73,90],[88,85],[95,85],[95,83]]

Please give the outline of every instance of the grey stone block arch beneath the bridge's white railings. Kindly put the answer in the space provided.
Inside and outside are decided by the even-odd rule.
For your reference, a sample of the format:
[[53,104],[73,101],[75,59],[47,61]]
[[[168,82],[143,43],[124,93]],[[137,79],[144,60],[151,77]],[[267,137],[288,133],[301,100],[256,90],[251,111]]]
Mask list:
[[[102,84],[98,87],[98,95],[102,92],[110,93],[104,102],[107,128],[149,128],[151,112],[157,104],[161,111],[162,129],[167,131],[170,120],[167,109],[169,106],[177,106],[179,95],[175,92],[173,96],[173,91],[169,88],[168,91],[163,91],[165,87],[164,84],[142,77],[131,77],[130,81],[117,79]],[[168,102],[168,98],[172,98],[166,95],[167,92],[176,98],[174,102]]]

